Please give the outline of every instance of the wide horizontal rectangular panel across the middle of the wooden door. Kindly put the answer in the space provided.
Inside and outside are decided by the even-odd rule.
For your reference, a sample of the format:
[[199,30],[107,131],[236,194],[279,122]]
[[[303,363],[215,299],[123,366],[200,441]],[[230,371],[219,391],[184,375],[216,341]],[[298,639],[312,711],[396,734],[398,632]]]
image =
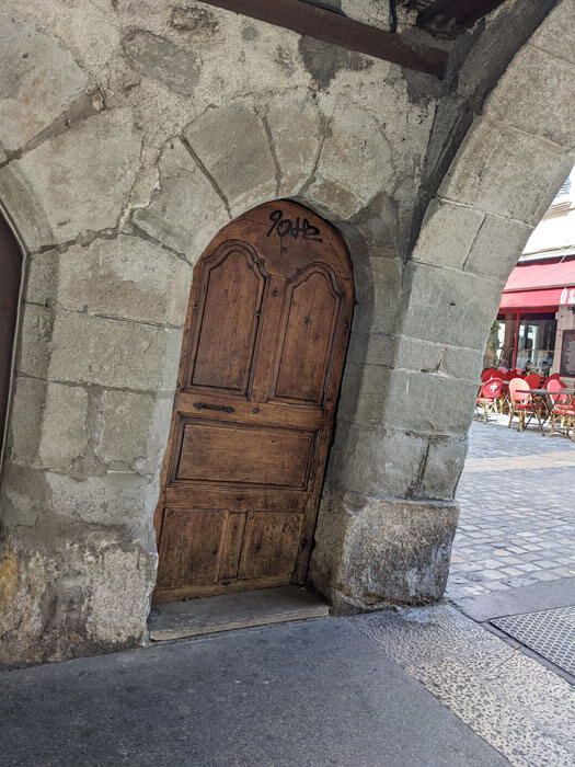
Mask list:
[[187,421],[174,480],[303,489],[313,432]]

